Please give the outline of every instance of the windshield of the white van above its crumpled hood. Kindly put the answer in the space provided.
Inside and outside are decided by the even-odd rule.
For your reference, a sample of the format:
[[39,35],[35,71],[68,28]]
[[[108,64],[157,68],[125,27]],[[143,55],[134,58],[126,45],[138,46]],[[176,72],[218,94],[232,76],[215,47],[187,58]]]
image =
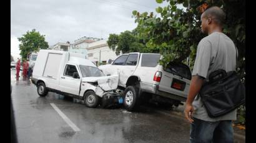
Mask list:
[[91,67],[86,65],[79,65],[79,68],[82,73],[82,77],[89,77],[89,76],[105,76],[101,70],[97,67]]

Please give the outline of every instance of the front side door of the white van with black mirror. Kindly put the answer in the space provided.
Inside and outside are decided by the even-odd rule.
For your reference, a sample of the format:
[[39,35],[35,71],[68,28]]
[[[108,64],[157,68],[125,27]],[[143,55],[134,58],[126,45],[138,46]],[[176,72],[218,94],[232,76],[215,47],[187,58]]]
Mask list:
[[[80,84],[81,84],[81,74],[76,65],[67,63],[64,73],[62,73],[59,86],[62,92],[70,93],[72,95],[79,95]],[[79,74],[78,78],[74,78],[73,74],[77,72]]]

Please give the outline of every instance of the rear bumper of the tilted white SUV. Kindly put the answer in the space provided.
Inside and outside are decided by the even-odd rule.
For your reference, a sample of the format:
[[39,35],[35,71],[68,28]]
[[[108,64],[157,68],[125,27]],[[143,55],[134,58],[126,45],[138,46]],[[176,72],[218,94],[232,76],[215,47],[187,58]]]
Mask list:
[[170,99],[176,99],[179,101],[186,101],[186,99],[187,99],[182,96],[175,95],[173,93],[167,93],[165,91],[160,91],[159,85],[154,85],[154,84],[150,84],[150,83],[140,82],[140,90],[142,92],[152,93],[154,95],[159,95],[159,96],[163,96],[163,97],[170,98]]

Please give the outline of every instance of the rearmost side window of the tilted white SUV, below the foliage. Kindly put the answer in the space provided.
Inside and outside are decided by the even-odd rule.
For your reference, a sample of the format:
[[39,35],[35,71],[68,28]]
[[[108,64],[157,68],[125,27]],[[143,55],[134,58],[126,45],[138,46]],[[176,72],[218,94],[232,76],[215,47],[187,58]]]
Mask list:
[[156,67],[159,59],[159,54],[142,54],[141,67]]

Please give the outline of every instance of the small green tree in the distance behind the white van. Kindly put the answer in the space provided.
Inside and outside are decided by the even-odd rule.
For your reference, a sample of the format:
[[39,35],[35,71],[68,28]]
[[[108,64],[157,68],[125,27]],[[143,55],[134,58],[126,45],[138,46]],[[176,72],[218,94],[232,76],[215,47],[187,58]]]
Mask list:
[[19,44],[19,50],[21,50],[22,59],[27,58],[27,53],[38,51],[40,49],[46,49],[49,47],[48,43],[45,40],[45,35],[41,35],[36,29],[32,31],[27,31],[26,34],[19,37],[18,40],[21,42]]

